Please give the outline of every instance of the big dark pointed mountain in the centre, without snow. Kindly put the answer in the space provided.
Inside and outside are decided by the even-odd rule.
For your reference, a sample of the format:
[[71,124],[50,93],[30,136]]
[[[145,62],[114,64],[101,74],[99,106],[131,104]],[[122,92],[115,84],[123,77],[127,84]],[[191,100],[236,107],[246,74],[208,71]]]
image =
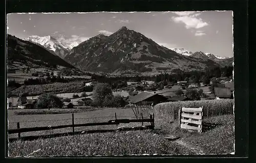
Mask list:
[[97,35],[81,42],[65,57],[72,65],[94,72],[144,73],[181,68],[204,69],[219,66],[211,60],[180,55],[139,32],[120,28],[110,36]]

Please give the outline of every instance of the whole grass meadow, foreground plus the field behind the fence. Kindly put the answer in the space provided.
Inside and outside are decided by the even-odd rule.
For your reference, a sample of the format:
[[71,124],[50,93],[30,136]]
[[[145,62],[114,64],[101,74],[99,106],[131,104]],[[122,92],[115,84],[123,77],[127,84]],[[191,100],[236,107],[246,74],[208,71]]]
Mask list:
[[[227,102],[225,105],[224,102]],[[230,101],[215,100],[208,101],[212,108],[218,108],[219,104],[228,108]],[[198,105],[206,103],[199,101]],[[175,104],[175,105],[174,105]],[[183,104],[183,102],[182,102]],[[190,105],[190,102],[184,102]],[[176,110],[179,108],[176,102],[173,104],[164,103],[168,109]],[[174,106],[173,106],[174,105]],[[173,107],[170,107],[173,106]],[[224,108],[224,107],[223,107]],[[68,110],[68,109],[67,109]],[[163,111],[163,114],[155,111]],[[228,110],[228,109],[227,109]],[[164,107],[155,106],[144,110],[143,117],[147,118],[149,112],[155,112],[155,129],[139,131],[117,131],[106,133],[83,133],[87,130],[117,129],[118,127],[139,127],[141,123],[130,123],[110,125],[110,126],[90,126],[77,127],[75,132],[81,134],[38,138],[33,141],[17,140],[9,143],[9,156],[109,156],[109,155],[177,155],[177,154],[198,154],[193,149],[200,149],[204,154],[229,154],[234,152],[234,115],[226,112],[225,114],[213,114],[203,119],[203,132],[191,132],[180,129],[177,119],[172,120],[172,112],[165,112]],[[75,124],[108,122],[115,119],[136,119],[134,112],[130,108],[102,108],[87,112],[75,112]],[[20,127],[40,127],[58,126],[72,124],[72,114],[26,114],[16,115],[15,110],[8,110],[9,129],[16,128],[16,123]],[[170,122],[170,120],[172,120]],[[208,125],[211,127],[207,127]],[[150,123],[144,123],[150,125]],[[63,128],[47,131],[36,131],[21,133],[21,136],[47,135],[55,133],[72,132],[72,128]],[[165,135],[172,134],[180,136],[179,142],[168,141]],[[9,137],[17,137],[17,134],[9,134]]]

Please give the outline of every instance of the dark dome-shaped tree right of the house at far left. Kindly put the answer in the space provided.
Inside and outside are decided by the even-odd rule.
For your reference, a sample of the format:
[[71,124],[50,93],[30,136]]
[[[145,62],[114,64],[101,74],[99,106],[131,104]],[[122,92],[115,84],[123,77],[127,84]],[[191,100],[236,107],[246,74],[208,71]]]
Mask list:
[[62,108],[62,102],[59,97],[53,94],[42,94],[38,97],[36,103],[38,109]]

